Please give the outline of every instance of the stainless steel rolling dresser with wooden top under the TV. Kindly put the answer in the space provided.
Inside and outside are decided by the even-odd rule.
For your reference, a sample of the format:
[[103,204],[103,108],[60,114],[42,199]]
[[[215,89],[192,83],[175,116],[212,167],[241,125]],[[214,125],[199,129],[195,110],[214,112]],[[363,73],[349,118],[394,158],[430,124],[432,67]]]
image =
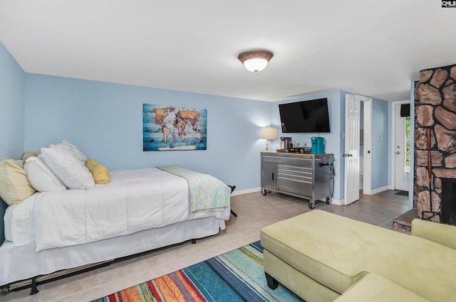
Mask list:
[[271,191],[331,203],[334,190],[333,154],[261,152],[261,193]]

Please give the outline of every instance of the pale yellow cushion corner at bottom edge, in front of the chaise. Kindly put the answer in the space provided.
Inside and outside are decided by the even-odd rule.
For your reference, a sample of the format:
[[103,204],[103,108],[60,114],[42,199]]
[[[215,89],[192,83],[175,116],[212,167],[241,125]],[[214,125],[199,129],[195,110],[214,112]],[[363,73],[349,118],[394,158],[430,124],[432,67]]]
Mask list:
[[368,274],[334,302],[426,302],[425,298],[376,274]]

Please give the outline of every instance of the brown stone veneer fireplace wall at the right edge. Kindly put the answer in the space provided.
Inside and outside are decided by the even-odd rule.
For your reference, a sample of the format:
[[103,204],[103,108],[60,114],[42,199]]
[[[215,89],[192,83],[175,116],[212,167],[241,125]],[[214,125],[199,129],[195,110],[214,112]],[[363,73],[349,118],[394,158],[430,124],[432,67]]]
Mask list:
[[[427,171],[427,129],[431,136],[431,181]],[[418,217],[422,217],[423,211],[440,212],[442,178],[456,180],[456,65],[422,70],[415,87],[413,203],[418,209]],[[438,215],[430,216],[424,215],[440,222]]]

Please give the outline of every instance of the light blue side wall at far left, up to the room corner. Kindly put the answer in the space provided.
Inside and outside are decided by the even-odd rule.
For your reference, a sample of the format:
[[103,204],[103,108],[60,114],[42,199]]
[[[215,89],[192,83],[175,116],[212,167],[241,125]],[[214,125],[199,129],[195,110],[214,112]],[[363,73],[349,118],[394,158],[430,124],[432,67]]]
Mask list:
[[[0,42],[0,161],[24,152],[24,70]],[[0,216],[6,203],[0,200]],[[0,244],[4,225],[0,223]]]

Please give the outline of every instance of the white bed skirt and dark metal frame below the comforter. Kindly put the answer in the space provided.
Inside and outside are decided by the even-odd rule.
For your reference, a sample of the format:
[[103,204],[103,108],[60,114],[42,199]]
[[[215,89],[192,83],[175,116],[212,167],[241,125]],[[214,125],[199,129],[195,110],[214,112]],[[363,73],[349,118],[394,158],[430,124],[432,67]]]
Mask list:
[[[228,185],[231,192],[235,185]],[[4,214],[6,203],[0,199],[0,292],[16,291],[31,287],[31,295],[38,293],[37,286],[56,279],[81,274],[111,264],[115,259],[167,247],[202,237],[218,234],[225,229],[225,220],[204,217],[185,220],[173,225],[142,230],[97,242],[70,247],[44,249],[36,252],[36,243],[15,247],[4,238]],[[237,214],[230,207],[222,217]],[[3,243],[2,243],[3,242]],[[2,243],[2,244],[1,244]],[[59,261],[48,261],[58,259]]]

